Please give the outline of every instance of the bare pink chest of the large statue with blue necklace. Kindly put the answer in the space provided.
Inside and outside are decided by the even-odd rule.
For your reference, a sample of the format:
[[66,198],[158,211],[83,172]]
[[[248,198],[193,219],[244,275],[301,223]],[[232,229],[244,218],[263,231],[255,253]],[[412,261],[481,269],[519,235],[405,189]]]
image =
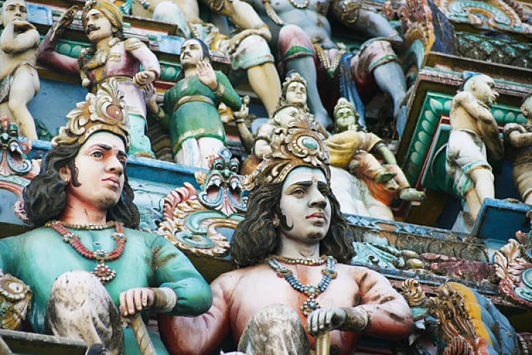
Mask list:
[[[302,284],[315,285],[321,279],[323,266],[290,265],[288,267]],[[337,264],[337,279],[333,280],[327,290],[317,297],[321,308],[357,306],[358,297],[360,297],[357,281],[368,271],[364,268]],[[370,272],[369,277],[373,277],[373,272]],[[236,343],[251,316],[272,304],[285,304],[296,310],[306,330],[307,318],[301,313],[299,307],[308,297],[294,291],[285,279],[277,277],[274,270],[266,264],[222,275],[211,284],[211,288],[215,295],[222,293],[224,299],[227,300],[229,324],[231,324]],[[331,346],[336,345],[342,349],[339,354],[351,354],[351,349],[355,347],[358,337],[358,334],[352,332],[332,331],[330,333]],[[311,348],[314,348],[315,338],[309,336],[309,340]]]

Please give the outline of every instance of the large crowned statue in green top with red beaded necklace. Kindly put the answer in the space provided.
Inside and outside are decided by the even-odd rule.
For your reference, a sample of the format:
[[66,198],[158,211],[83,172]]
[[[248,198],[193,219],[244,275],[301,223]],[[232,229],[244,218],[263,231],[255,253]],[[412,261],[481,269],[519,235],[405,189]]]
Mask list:
[[[67,117],[24,189],[37,229],[0,240],[0,269],[30,286],[34,331],[139,354],[121,316],[199,315],[211,306],[211,289],[170,242],[136,230],[139,211],[125,175],[127,112],[116,82],[87,94]],[[157,354],[167,354],[152,340]]]

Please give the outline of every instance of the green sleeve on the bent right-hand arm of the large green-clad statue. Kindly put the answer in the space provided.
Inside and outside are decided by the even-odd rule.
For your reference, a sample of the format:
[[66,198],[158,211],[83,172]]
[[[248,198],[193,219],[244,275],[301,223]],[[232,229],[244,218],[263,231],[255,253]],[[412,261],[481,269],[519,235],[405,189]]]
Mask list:
[[177,303],[170,315],[196,316],[211,308],[211,287],[172,243],[158,236],[152,243],[152,255],[157,286],[172,288],[177,295]]

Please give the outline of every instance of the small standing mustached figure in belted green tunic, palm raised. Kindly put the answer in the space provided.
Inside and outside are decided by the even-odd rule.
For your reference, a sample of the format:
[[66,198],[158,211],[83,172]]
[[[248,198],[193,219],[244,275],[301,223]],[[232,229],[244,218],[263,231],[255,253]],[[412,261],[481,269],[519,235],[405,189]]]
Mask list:
[[181,46],[181,72],[177,84],[164,94],[164,109],[155,96],[148,108],[170,130],[175,162],[197,168],[209,168],[209,157],[224,148],[225,130],[218,105],[220,102],[238,111],[240,96],[229,79],[211,66],[209,48],[194,38]]

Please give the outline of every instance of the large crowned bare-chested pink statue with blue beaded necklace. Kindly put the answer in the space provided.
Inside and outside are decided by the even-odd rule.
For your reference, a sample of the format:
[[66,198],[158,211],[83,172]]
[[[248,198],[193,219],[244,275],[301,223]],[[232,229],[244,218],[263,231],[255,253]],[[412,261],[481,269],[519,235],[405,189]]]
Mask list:
[[272,139],[231,239],[239,269],[213,281],[204,315],[159,318],[172,354],[211,354],[230,330],[246,354],[314,354],[314,336],[328,332],[334,354],[353,354],[361,334],[409,336],[405,299],[378,272],[348,265],[353,234],[330,189],[322,139],[302,120]]

